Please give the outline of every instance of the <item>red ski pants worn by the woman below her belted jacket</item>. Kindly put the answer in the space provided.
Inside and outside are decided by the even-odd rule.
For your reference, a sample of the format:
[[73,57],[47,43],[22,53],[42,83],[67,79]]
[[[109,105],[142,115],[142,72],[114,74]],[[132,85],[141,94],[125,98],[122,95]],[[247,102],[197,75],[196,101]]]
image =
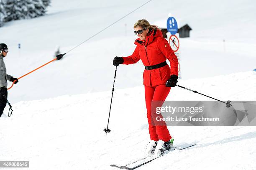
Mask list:
[[[152,101],[162,101],[161,106],[164,103],[166,97],[168,96],[171,87],[166,87],[165,85],[159,86],[145,86],[145,99],[146,99],[146,107],[147,107],[147,117],[148,117],[148,130],[150,134],[150,139],[154,141],[163,140],[164,142],[172,139],[169,130],[166,127],[164,122],[164,126],[154,125],[151,122],[151,102]],[[159,105],[159,107],[161,107]],[[153,119],[154,120],[154,119]]]

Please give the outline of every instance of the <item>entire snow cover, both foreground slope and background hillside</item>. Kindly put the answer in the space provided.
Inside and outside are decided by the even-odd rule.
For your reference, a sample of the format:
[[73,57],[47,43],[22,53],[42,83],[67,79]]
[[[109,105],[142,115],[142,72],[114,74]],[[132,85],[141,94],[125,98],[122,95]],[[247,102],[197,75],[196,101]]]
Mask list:
[[[26,74],[52,60],[58,46],[65,53],[146,2],[53,0],[46,16],[6,23],[0,41],[10,49],[5,58],[8,74]],[[29,168],[23,168],[29,170],[115,170],[111,164],[127,165],[146,155],[150,139],[141,61],[118,66],[111,132],[103,132],[113,58],[133,52],[133,24],[141,18],[162,26],[172,13],[180,24],[192,27],[191,37],[180,39],[179,85],[223,101],[255,101],[255,5],[250,0],[152,0],[62,60],[20,79],[8,91],[13,116],[8,117],[7,106],[0,118],[0,161],[29,161]],[[173,87],[166,100],[209,99]],[[197,145],[174,150],[139,170],[256,168],[254,126],[168,129],[174,146]]]

